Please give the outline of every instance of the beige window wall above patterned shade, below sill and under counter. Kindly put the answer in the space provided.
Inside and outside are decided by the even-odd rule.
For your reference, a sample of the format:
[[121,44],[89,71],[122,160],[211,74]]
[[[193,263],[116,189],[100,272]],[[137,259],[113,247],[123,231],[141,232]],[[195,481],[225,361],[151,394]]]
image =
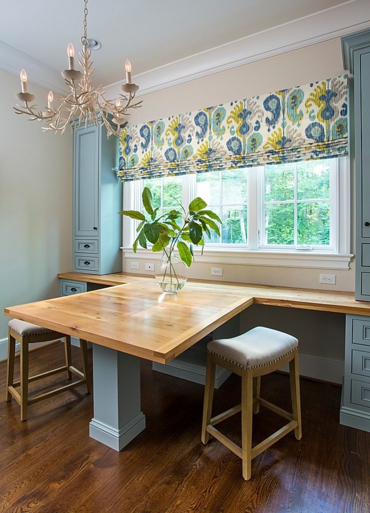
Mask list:
[[[343,72],[340,40],[336,39],[142,96],[143,105],[131,114],[129,123],[142,123],[277,89],[304,85]],[[128,259],[124,258],[124,270],[130,272],[128,263]],[[214,265],[201,263],[199,257],[189,269],[189,274],[193,278],[211,279],[210,270]],[[139,272],[145,272],[143,261],[140,261],[140,266]],[[333,271],[225,264],[222,267],[222,280],[227,281],[354,290],[354,262],[349,270]],[[337,284],[326,287],[319,285],[320,272],[335,273]],[[249,313],[247,311],[241,317],[242,329],[249,329],[256,322],[290,330],[299,337],[303,353],[317,355],[329,361],[344,360],[344,315],[257,305],[253,307],[252,314]],[[309,326],[315,326],[315,329],[307,329]],[[321,363],[325,367],[327,361],[322,360]],[[342,365],[337,365],[336,369],[338,368],[339,372],[335,372],[340,374]],[[315,374],[311,372],[310,375]],[[339,379],[332,377],[329,381]]]

